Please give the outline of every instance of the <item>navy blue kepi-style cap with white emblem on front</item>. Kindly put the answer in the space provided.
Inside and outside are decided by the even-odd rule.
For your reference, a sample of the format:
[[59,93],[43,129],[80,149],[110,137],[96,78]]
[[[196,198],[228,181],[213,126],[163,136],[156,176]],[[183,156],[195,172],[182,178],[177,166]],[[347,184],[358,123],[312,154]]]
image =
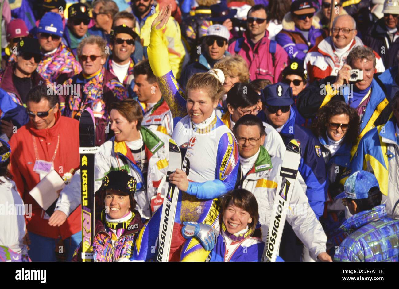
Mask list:
[[264,97],[266,105],[282,106],[294,103],[292,88],[282,82],[268,85],[261,90],[261,95]]

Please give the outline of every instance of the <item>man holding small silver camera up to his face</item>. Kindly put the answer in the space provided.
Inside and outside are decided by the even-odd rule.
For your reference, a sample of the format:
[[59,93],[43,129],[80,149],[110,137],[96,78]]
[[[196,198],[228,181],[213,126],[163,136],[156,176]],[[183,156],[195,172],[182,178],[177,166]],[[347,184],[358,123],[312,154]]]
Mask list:
[[[336,77],[315,81],[298,95],[296,105],[299,113],[304,118],[313,118],[317,110],[330,100],[345,101],[360,116],[360,140],[369,130],[387,122],[392,112],[384,85],[377,77],[374,78],[375,65],[375,53],[371,48],[353,48]],[[356,149],[357,144],[352,148],[352,156]]]

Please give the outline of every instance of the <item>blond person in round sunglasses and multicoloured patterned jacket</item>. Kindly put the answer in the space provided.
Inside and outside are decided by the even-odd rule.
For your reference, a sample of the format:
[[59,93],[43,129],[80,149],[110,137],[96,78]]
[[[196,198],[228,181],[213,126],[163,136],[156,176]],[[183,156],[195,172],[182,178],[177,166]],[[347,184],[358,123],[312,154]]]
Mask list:
[[83,71],[64,82],[60,95],[60,110],[65,116],[79,119],[85,108],[91,108],[96,120],[96,145],[107,138],[109,106],[127,98],[126,89],[118,78],[103,65],[107,59],[107,41],[91,35],[78,46],[78,56]]

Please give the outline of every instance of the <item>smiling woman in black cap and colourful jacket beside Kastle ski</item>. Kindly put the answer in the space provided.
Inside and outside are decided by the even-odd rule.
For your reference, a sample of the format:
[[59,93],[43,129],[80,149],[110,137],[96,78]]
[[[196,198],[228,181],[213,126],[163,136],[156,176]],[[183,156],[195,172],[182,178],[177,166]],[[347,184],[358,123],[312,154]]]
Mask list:
[[[125,170],[111,171],[100,188],[105,208],[95,222],[95,237],[91,248],[97,262],[129,261],[134,240],[141,229],[140,213],[134,208],[136,179]],[[72,261],[82,261],[82,246],[76,248]]]

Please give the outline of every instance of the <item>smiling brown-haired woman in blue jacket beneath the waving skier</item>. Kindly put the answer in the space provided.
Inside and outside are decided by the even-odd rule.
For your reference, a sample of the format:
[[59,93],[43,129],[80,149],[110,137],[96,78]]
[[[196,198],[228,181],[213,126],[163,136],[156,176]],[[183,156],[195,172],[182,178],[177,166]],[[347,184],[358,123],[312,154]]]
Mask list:
[[[237,189],[223,196],[219,215],[220,232],[209,225],[184,222],[182,236],[196,237],[205,250],[211,251],[210,262],[260,262],[265,243],[261,230],[255,230],[259,220],[255,196]],[[283,261],[277,256],[277,261]]]

